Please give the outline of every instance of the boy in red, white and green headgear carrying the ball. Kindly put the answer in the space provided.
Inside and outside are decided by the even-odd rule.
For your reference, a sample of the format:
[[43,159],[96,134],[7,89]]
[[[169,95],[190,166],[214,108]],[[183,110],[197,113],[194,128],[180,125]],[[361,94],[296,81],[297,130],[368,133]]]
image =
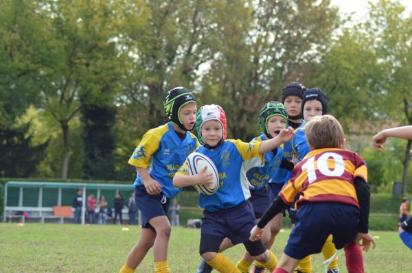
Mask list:
[[[220,187],[216,193],[199,195],[199,206],[204,209],[199,250],[201,257],[219,272],[241,272],[219,252],[220,244],[228,237],[233,244],[244,244],[253,259],[262,263],[264,268],[273,270],[277,263],[273,252],[266,250],[262,240],[249,241],[248,233],[255,224],[255,216],[248,200],[251,193],[246,171],[252,167],[262,167],[263,155],[285,141],[290,141],[293,129],[283,129],[279,136],[262,142],[225,140],[225,112],[216,105],[203,106],[198,110],[196,129],[198,138],[203,143],[196,152],[211,158],[220,177]],[[173,178],[173,185],[176,187],[210,183],[211,174],[207,174],[205,169],[190,176],[185,164]]]

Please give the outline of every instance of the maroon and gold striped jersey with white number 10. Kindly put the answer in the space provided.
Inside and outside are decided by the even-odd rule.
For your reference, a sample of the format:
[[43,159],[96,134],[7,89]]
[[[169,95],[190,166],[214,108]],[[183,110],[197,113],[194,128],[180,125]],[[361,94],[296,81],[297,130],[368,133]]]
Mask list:
[[293,169],[288,185],[279,193],[286,204],[304,202],[339,202],[359,207],[354,180],[367,182],[365,161],[355,152],[335,148],[312,150]]

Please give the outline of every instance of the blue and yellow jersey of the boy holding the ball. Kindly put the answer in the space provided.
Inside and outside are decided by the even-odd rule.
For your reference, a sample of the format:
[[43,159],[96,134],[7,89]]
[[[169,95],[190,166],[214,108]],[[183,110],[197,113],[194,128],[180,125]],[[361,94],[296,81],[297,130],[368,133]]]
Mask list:
[[[259,154],[260,142],[245,143],[228,139],[209,150],[201,145],[196,152],[205,154],[214,162],[219,172],[219,188],[212,195],[199,195],[199,206],[215,212],[230,209],[251,197],[246,172],[264,165],[264,155]],[[186,163],[177,174],[188,174]]]

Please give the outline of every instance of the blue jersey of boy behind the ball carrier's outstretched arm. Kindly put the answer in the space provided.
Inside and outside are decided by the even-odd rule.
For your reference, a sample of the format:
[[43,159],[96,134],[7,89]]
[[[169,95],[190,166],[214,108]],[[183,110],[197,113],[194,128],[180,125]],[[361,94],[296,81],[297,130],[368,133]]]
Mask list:
[[[261,134],[259,137],[255,137],[252,141],[261,142],[266,139],[266,135]],[[284,152],[282,147],[277,147],[276,154],[272,151],[266,152],[264,155],[263,167],[253,167],[247,171],[247,179],[254,187],[251,191],[259,191],[266,186],[271,178],[275,177],[283,157]]]

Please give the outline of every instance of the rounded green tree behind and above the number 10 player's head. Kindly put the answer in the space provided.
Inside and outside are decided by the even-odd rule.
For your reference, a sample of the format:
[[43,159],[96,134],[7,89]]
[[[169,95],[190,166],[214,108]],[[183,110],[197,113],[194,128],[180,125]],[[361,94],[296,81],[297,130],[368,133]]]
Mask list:
[[[377,119],[382,70],[378,66],[373,40],[362,25],[341,29],[330,49],[314,67],[311,86],[328,95],[329,112],[350,132],[370,132]],[[356,120],[356,123],[354,123]]]

